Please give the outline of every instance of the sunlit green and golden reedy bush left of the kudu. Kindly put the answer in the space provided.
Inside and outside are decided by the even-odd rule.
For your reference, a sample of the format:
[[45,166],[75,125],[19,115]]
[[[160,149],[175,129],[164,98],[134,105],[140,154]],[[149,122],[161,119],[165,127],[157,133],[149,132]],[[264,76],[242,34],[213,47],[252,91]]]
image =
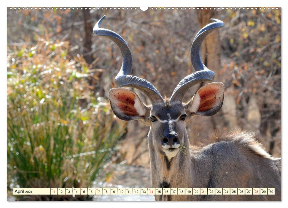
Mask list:
[[7,48],[7,185],[89,187],[124,122],[91,91],[93,75],[69,42],[36,37]]

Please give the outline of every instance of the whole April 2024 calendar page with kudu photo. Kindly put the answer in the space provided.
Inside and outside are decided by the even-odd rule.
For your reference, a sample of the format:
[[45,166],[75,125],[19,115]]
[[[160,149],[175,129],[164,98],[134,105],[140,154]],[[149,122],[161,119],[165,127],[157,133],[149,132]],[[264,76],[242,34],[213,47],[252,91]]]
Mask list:
[[7,7],[7,201],[281,201],[281,7],[192,4]]

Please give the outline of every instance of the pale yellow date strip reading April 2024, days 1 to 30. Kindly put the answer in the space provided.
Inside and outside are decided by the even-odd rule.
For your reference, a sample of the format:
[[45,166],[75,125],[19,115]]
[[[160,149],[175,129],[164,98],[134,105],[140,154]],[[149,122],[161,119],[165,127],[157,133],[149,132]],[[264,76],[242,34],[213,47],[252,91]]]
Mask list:
[[14,195],[275,195],[275,188],[13,188]]

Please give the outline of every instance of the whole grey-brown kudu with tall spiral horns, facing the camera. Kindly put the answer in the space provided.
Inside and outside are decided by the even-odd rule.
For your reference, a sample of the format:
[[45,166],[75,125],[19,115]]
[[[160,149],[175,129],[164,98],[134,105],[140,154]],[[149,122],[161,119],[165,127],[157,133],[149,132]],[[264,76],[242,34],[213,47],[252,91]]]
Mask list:
[[[122,53],[122,67],[115,78],[118,88],[109,91],[114,114],[122,120],[139,119],[149,125],[148,146],[153,188],[275,188],[275,195],[155,195],[156,201],[280,201],[281,158],[273,158],[255,140],[252,133],[219,133],[202,146],[189,144],[186,123],[196,115],[212,116],[222,106],[224,85],[212,82],[197,90],[182,103],[184,94],[197,83],[213,81],[200,57],[200,46],[211,31],[223,22],[211,19],[196,35],[191,46],[195,72],[174,89],[171,98],[161,96],[147,80],[132,76],[132,55],[125,40],[114,31],[100,28],[103,16],[94,26],[95,35],[114,41]],[[149,97],[147,106],[132,91],[133,87]]]

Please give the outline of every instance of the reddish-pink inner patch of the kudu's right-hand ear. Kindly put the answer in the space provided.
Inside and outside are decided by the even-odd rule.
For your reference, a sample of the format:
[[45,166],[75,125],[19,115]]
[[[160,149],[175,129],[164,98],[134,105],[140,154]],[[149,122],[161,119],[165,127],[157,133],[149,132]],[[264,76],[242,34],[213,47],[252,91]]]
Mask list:
[[221,97],[217,97],[218,90],[212,87],[203,87],[198,91],[200,96],[200,104],[198,107],[198,111],[208,111],[213,108],[221,99]]

